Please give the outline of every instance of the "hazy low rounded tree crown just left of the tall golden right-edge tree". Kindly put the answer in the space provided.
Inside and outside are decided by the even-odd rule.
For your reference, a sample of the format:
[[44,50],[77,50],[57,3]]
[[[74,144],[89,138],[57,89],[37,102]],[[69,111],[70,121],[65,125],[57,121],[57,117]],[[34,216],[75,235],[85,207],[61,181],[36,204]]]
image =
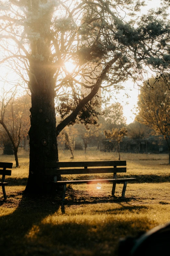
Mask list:
[[149,135],[153,134],[153,129],[137,121],[130,123],[127,126],[127,130],[128,130],[128,137],[135,140],[145,139],[145,138],[148,138]]

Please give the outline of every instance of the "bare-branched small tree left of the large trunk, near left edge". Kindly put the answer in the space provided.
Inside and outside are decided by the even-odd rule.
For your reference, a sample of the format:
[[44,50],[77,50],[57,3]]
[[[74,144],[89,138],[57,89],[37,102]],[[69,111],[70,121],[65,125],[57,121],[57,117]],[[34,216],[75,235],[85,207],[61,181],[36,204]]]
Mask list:
[[[19,166],[18,161],[18,147],[21,138],[28,134],[30,128],[29,109],[30,109],[30,96],[23,95],[16,97],[16,88],[13,91],[6,92],[2,90],[0,96],[0,124],[4,128],[3,132],[7,133],[9,140],[12,144],[16,167]],[[7,138],[5,143],[7,142]]]

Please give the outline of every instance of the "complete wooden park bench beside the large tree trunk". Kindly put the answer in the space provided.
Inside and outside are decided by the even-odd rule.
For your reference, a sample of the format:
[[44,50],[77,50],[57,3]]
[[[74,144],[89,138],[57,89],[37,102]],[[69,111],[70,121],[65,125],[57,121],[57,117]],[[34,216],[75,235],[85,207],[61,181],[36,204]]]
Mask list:
[[[66,184],[96,184],[101,182],[113,182],[112,195],[115,194],[116,183],[124,183],[122,195],[124,198],[127,181],[135,180],[135,178],[117,179],[117,173],[125,173],[126,161],[96,161],[96,162],[45,162],[45,175],[54,175],[54,181],[52,183],[63,186],[62,201],[64,202]],[[64,169],[59,169],[59,168]],[[75,167],[83,167],[77,168]],[[90,168],[89,168],[90,167]],[[100,168],[91,168],[100,167]],[[65,169],[68,168],[68,169]],[[113,173],[113,179],[92,179],[92,180],[63,180],[57,181],[56,175],[69,175],[69,174],[97,174],[97,173]]]

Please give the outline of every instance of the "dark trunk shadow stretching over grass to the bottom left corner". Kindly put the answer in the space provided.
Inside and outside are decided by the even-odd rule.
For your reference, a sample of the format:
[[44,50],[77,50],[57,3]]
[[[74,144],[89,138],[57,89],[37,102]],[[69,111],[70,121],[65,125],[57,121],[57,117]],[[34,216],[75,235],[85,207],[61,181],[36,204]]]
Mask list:
[[[0,217],[0,255],[27,255],[26,235],[29,235],[29,231],[39,225],[46,216],[58,211],[61,203],[54,204],[53,201],[52,197],[23,195],[14,212]],[[4,207],[6,203],[3,202],[1,203]],[[3,207],[0,207],[1,210]],[[10,208],[10,205],[7,204],[7,207]]]

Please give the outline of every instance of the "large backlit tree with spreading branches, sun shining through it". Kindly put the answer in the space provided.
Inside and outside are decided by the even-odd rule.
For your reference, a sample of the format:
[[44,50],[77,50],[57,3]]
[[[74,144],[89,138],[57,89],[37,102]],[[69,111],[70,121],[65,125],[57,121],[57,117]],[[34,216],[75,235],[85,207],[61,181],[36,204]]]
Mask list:
[[[125,18],[141,4],[0,1],[1,63],[10,66],[31,92],[27,192],[43,191],[44,162],[58,161],[56,137],[65,126],[76,121],[96,124],[100,88],[117,92],[129,77],[140,79],[146,64],[161,69],[169,65],[163,52],[169,26],[156,15],[143,17],[137,26]],[[72,70],[66,69],[68,62],[74,64]],[[55,98],[62,118],[57,128]]]

